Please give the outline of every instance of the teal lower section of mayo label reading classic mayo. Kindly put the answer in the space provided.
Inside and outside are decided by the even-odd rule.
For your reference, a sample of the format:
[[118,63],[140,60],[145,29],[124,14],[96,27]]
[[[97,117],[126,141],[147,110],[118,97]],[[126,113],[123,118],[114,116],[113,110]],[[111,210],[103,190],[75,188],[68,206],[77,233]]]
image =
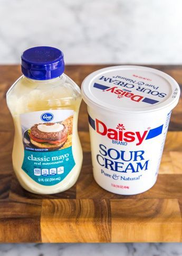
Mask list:
[[64,180],[75,165],[72,147],[52,152],[25,150],[24,153],[22,169],[44,186],[52,186]]

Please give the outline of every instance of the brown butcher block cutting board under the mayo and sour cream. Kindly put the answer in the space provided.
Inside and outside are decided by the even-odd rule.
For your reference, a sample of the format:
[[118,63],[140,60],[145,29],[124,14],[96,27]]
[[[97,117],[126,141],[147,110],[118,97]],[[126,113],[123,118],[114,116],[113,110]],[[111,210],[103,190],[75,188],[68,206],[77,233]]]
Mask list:
[[[81,85],[106,65],[71,65],[65,73]],[[151,66],[182,84],[182,66]],[[25,191],[12,167],[14,127],[5,95],[20,66],[0,66],[0,241],[1,242],[181,242],[182,98],[171,116],[157,183],[145,193],[120,196],[93,180],[87,109],[81,104],[79,135],[83,166],[68,191],[40,196]]]

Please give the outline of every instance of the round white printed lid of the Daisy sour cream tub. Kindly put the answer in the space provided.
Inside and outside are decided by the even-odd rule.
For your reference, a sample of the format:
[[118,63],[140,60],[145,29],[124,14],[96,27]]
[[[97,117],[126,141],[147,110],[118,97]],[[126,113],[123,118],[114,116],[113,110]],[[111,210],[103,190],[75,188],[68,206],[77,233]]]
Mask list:
[[82,83],[84,101],[92,107],[114,112],[151,112],[169,107],[179,100],[178,83],[154,68],[113,66],[87,76]]

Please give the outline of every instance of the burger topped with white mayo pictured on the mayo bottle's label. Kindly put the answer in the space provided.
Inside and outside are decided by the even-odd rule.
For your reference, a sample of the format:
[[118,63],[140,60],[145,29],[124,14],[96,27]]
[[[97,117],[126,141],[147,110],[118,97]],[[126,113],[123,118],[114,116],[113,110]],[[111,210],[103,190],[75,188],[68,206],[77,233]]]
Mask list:
[[28,130],[28,135],[37,148],[59,149],[68,138],[68,127],[62,123],[36,123]]

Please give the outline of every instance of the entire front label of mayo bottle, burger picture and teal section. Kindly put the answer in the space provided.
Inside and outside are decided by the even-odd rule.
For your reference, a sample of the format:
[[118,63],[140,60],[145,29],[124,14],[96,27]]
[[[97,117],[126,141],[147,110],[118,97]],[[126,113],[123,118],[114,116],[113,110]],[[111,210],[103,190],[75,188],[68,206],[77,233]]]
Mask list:
[[35,111],[20,115],[22,170],[37,183],[53,186],[73,169],[73,110]]

